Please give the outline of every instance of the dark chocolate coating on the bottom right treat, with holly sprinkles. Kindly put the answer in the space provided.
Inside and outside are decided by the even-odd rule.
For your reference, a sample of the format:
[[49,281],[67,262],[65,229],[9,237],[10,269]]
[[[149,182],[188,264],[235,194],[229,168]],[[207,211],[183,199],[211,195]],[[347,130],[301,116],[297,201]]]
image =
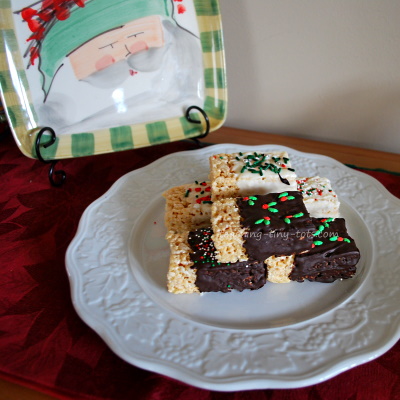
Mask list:
[[[321,218],[312,218],[312,220],[317,229],[323,224]],[[329,227],[325,227],[318,236],[314,237],[316,242],[322,244],[315,245],[307,253],[295,256],[291,280],[303,282],[307,279],[330,283],[337,279],[351,278],[356,273],[360,251],[347,233],[345,220],[336,218],[328,225]],[[329,238],[334,236],[340,239],[330,241]]]

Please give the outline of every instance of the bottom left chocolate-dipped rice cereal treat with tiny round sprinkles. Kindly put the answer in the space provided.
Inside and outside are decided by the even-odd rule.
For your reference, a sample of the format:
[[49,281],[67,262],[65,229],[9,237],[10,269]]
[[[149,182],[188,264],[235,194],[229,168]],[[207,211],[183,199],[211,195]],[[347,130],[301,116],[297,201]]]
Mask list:
[[220,263],[215,257],[211,236],[210,228],[167,235],[171,248],[169,292],[230,292],[264,286],[263,262]]

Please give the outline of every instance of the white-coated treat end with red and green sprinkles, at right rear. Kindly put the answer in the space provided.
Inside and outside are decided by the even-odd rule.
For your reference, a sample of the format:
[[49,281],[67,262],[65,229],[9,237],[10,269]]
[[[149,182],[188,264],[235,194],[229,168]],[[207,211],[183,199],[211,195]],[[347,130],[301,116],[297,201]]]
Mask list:
[[327,178],[297,178],[297,189],[311,217],[338,218],[340,202]]

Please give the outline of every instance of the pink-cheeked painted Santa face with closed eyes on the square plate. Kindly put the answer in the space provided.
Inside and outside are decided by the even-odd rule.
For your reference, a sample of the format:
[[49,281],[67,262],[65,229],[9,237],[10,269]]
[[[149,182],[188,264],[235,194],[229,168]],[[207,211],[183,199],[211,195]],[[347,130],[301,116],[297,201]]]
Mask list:
[[118,61],[151,48],[164,46],[161,18],[157,15],[137,19],[112,29],[69,54],[75,76],[83,80]]

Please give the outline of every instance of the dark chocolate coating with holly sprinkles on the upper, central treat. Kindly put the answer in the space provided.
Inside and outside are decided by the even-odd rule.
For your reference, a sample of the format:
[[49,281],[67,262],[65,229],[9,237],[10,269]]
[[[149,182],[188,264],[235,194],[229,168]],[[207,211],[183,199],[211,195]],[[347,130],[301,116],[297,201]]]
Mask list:
[[[271,202],[276,205],[263,208]],[[311,249],[316,229],[300,192],[287,192],[283,197],[281,193],[242,197],[237,198],[236,203],[241,225],[247,230],[243,246],[249,258],[266,260],[270,256],[290,256]],[[277,212],[271,212],[271,209]],[[303,215],[290,218],[290,223],[285,222],[285,217],[299,213]],[[269,225],[256,223],[264,217],[270,218]]]

